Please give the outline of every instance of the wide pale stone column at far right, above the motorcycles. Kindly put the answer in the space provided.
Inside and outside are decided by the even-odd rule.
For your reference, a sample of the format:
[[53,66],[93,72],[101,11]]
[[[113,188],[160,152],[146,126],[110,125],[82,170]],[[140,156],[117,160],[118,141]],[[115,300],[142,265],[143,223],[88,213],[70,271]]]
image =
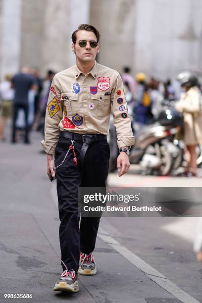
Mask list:
[[201,28],[200,0],[137,0],[136,72],[165,80],[199,71]]

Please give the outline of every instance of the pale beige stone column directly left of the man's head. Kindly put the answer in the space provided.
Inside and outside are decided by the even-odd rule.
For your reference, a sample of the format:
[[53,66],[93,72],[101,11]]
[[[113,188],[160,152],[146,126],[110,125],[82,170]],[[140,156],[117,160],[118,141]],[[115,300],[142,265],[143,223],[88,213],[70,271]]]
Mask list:
[[81,23],[89,22],[90,0],[47,0],[42,41],[43,71],[58,72],[75,63],[71,35]]

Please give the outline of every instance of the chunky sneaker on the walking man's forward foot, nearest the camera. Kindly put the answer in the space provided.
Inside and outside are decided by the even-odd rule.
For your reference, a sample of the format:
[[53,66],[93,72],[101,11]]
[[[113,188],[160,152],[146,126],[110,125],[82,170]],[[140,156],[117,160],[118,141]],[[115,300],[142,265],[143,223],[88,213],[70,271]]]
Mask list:
[[55,283],[53,291],[65,291],[77,293],[79,291],[79,283],[74,270],[65,270],[59,280]]

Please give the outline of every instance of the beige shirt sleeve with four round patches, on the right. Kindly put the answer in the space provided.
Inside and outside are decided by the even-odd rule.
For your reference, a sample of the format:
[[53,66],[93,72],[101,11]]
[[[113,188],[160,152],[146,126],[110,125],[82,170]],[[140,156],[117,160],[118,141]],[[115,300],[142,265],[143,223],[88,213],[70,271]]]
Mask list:
[[131,147],[135,144],[135,138],[133,136],[131,119],[123,91],[123,82],[118,73],[111,92],[111,103],[118,148],[121,148],[122,146]]

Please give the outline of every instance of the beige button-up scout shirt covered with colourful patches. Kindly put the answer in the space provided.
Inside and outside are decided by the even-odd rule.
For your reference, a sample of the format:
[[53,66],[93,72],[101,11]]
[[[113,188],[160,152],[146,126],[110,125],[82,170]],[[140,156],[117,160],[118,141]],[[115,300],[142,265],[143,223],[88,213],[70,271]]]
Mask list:
[[60,130],[107,135],[111,112],[118,147],[134,145],[123,83],[117,71],[96,62],[87,75],[76,65],[57,73],[47,104],[42,141],[45,152],[54,153]]

